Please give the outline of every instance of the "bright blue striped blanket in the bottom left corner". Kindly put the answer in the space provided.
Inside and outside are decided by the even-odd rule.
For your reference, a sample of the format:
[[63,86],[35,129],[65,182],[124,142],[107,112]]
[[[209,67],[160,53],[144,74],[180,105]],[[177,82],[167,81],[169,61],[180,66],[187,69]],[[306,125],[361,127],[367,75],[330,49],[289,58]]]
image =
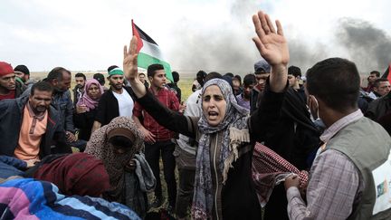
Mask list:
[[63,196],[50,182],[16,178],[0,184],[0,219],[140,219],[127,206],[90,196]]

